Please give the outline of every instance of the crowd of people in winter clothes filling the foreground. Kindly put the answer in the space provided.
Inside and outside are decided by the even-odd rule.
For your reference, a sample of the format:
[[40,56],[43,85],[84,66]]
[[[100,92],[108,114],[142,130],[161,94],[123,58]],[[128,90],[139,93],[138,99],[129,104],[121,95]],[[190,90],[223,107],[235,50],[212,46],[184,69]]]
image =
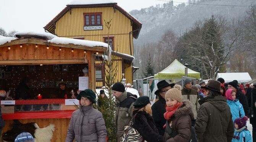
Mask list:
[[[256,141],[256,88],[253,84],[209,80],[184,86],[157,83],[158,101],[151,107],[149,97],[136,98],[117,82],[117,142],[252,142]],[[101,98],[107,97],[100,91]],[[93,108],[95,93],[84,90],[68,127],[66,142],[106,142],[107,128],[102,113]],[[102,105],[98,102],[98,105]],[[246,121],[250,118],[252,136]],[[17,140],[20,139],[17,136]],[[29,137],[31,138],[31,137]],[[18,142],[18,141],[17,141]]]

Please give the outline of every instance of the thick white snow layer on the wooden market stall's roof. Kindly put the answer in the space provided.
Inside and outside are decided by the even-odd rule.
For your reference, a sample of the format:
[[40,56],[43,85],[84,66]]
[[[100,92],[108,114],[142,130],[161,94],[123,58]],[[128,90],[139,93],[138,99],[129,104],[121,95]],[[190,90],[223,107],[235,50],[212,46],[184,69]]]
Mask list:
[[103,42],[99,42],[99,41],[89,41],[89,40],[81,40],[81,39],[73,39],[73,38],[62,38],[62,37],[58,37],[58,36],[55,36],[55,35],[53,35],[51,33],[47,33],[47,32],[25,31],[25,32],[16,32],[14,34],[14,36],[17,38],[20,38],[22,36],[28,36],[28,35],[45,37],[46,39],[48,39],[47,40],[48,43],[74,44],[74,45],[81,45],[81,46],[88,46],[88,47],[95,47],[95,46],[108,47],[107,43],[103,43]]

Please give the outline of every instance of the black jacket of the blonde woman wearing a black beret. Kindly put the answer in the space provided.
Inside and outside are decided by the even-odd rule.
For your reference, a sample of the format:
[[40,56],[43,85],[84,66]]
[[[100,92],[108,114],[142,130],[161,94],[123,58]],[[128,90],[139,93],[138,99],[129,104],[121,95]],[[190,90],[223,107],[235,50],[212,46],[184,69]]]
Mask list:
[[147,142],[162,142],[163,137],[158,133],[156,125],[151,115],[146,111],[133,111],[132,127],[139,131],[139,134]]

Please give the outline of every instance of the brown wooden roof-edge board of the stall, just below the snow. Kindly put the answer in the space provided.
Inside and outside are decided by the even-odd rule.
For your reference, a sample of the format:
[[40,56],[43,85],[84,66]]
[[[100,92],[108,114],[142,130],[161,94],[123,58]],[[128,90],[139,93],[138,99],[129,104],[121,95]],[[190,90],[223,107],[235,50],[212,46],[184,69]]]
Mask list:
[[3,45],[0,45],[0,47],[4,46],[12,46],[16,44],[41,44],[41,45],[49,45],[49,46],[56,46],[56,47],[66,47],[66,48],[75,48],[75,49],[84,49],[84,50],[92,50],[92,51],[102,51],[105,52],[107,50],[106,47],[102,46],[95,46],[95,47],[88,47],[88,46],[81,46],[81,45],[75,45],[75,44],[55,44],[55,43],[48,43],[47,40],[43,39],[16,39],[11,41],[11,43],[5,43]]

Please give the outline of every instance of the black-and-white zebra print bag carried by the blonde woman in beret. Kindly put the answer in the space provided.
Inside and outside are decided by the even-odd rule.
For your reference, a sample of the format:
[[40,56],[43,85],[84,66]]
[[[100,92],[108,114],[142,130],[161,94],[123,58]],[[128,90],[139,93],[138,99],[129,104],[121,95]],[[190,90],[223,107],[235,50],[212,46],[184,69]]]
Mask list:
[[146,142],[146,140],[143,139],[141,134],[139,134],[139,132],[132,127],[133,118],[131,119],[129,125],[125,126],[125,133],[123,134],[121,142]]

